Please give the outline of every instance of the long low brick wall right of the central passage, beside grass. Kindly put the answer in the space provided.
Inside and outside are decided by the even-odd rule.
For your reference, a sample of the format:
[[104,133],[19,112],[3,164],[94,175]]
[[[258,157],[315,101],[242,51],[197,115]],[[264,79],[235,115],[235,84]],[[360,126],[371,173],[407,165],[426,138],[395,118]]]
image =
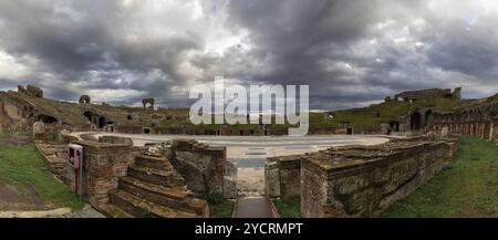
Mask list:
[[330,148],[302,157],[303,217],[375,217],[438,173],[458,138]]

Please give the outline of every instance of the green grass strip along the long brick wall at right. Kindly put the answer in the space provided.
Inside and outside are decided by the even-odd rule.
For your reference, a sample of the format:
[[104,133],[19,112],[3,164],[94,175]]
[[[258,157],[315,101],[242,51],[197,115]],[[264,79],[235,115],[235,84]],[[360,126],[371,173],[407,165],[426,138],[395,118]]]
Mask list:
[[498,146],[465,136],[457,157],[384,217],[498,217]]

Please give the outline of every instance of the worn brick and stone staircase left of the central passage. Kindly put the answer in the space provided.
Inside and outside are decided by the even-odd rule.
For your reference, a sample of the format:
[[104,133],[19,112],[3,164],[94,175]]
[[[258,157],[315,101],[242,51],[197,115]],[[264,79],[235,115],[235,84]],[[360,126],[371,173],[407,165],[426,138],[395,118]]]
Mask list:
[[207,202],[187,190],[168,159],[145,155],[135,158],[101,210],[113,218],[209,217]]

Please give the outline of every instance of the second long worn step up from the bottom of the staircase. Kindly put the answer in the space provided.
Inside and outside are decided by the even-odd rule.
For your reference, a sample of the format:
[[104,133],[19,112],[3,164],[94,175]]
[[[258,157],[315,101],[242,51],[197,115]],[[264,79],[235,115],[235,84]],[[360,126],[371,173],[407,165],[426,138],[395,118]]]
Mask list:
[[124,191],[162,206],[174,209],[187,209],[199,216],[206,217],[209,213],[205,200],[191,197],[190,194],[183,188],[167,188],[129,176],[122,177],[118,187]]

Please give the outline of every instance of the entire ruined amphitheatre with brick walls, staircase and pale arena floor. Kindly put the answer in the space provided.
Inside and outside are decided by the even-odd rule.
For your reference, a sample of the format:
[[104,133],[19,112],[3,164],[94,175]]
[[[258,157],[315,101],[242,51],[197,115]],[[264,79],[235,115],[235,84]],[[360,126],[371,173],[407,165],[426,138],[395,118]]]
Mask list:
[[[497,95],[463,100],[460,91],[408,91],[313,113],[309,136],[298,139],[279,125],[195,126],[188,109],[155,108],[154,98],[143,107],[87,95],[61,102],[29,85],[0,92],[0,129],[32,128],[50,169],[71,188],[77,176],[68,145],[82,146],[84,199],[107,217],[208,217],[206,194],[236,202],[299,197],[302,217],[375,217],[450,161],[459,135],[498,139]],[[255,176],[249,185],[260,186],[247,189]]]

